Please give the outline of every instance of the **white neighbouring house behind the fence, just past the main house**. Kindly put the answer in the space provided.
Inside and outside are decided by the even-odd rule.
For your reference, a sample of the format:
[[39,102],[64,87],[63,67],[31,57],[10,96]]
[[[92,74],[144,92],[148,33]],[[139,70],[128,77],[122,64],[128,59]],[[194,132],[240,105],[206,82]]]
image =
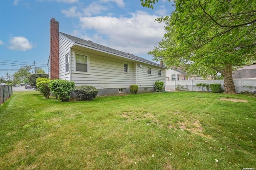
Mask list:
[[166,70],[166,80],[188,80],[186,72],[183,72],[181,68],[170,68]]

